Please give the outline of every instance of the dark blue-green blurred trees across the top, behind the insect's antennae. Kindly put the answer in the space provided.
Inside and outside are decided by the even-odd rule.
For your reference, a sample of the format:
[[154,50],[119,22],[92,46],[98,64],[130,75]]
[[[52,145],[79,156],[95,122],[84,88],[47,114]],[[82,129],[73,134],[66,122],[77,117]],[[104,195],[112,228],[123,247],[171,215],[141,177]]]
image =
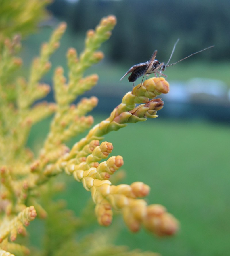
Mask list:
[[229,0],[55,0],[48,9],[73,33],[85,33],[103,16],[116,15],[107,53],[114,61],[147,61],[157,49],[158,59],[167,62],[177,38],[173,62],[213,44],[203,53],[206,60],[230,58]]

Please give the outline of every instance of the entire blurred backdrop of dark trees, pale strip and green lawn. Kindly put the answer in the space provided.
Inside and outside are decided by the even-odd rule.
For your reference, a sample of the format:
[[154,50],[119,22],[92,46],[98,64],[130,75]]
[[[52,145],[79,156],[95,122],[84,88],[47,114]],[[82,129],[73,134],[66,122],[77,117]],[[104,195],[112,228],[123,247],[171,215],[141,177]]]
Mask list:
[[[144,231],[132,234],[117,219],[112,224],[116,230],[119,227],[117,244],[165,256],[229,255],[230,2],[56,0],[48,9],[52,18],[41,24],[38,34],[23,42],[21,54],[26,73],[41,42],[48,39],[59,21],[66,20],[68,30],[51,59],[52,70],[44,78],[50,84],[55,67],[66,69],[68,47],[76,47],[80,53],[86,30],[94,28],[103,16],[115,14],[118,18],[112,37],[101,48],[105,59],[88,71],[99,74],[98,85],[83,95],[99,98],[93,111],[95,123],[107,118],[132,89],[127,78],[119,82],[124,73],[134,64],[147,61],[154,50],[158,50],[160,62],[167,62],[180,38],[173,63],[215,45],[166,69],[172,96],[169,93],[163,97],[164,108],[158,118],[129,124],[105,139],[114,146],[112,155],[124,158],[127,177],[122,182],[150,185],[148,202],[166,206],[181,225],[175,237],[157,238]],[[51,92],[47,100],[52,99]],[[50,119],[45,120],[31,131],[28,145],[35,152],[45,139],[49,123]],[[79,205],[83,208],[90,195],[69,178],[64,197],[78,214]]]

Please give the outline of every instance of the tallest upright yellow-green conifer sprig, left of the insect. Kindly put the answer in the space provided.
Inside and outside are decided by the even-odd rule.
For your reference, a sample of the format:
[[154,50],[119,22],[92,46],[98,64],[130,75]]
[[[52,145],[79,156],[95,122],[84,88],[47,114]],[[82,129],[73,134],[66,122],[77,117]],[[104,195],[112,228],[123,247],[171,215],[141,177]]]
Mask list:
[[115,25],[116,18],[108,16],[101,20],[95,31],[88,31],[85,50],[81,53],[79,59],[74,48],[68,50],[67,59],[70,69],[68,83],[66,83],[67,79],[64,77],[63,69],[61,67],[56,69],[54,88],[58,108],[51,125],[51,132],[45,142],[45,152],[57,151],[58,145],[84,132],[92,125],[92,116],[85,115],[97,105],[97,98],[84,98],[77,106],[70,106],[70,103],[78,95],[90,90],[97,83],[97,75],[83,77],[83,74],[86,68],[104,57],[102,52],[96,50],[109,38]]

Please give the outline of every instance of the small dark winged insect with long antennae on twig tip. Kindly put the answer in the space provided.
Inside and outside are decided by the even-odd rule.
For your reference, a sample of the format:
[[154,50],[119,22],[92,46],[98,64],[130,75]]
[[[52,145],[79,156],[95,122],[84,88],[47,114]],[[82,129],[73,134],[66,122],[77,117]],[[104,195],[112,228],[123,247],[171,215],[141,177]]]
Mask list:
[[[166,67],[173,66],[173,65],[177,64],[178,62],[183,61],[183,60],[185,60],[185,59],[187,59],[187,58],[189,58],[189,57],[191,57],[191,56],[193,56],[193,55],[195,55],[195,54],[197,54],[197,53],[199,53],[199,52],[203,52],[203,51],[205,51],[205,50],[208,50],[209,48],[214,47],[214,45],[209,46],[208,48],[205,48],[205,49],[203,49],[203,50],[200,50],[200,51],[198,51],[198,52],[195,52],[195,53],[193,53],[193,54],[191,54],[191,55],[189,55],[189,56],[187,56],[187,57],[185,57],[185,58],[183,58],[183,59],[181,59],[181,60],[179,60],[179,61],[177,61],[177,62],[175,62],[175,63],[173,63],[173,64],[168,65],[170,59],[171,59],[172,56],[173,56],[173,52],[174,52],[174,50],[175,50],[175,47],[176,47],[178,41],[179,41],[179,39],[177,39],[177,42],[174,44],[174,46],[173,46],[173,51],[172,51],[171,56],[170,56],[170,58],[169,58],[169,60],[168,60],[168,62],[167,62],[166,65],[164,64],[164,62],[160,63],[158,60],[155,59],[155,58],[156,58],[156,54],[157,54],[157,50],[155,50],[154,53],[153,53],[153,55],[152,55],[152,57],[151,57],[151,59],[150,59],[149,61],[143,62],[143,63],[140,63],[140,64],[137,64],[137,65],[134,65],[133,67],[131,67],[131,68],[124,74],[124,76],[122,76],[122,78],[120,79],[120,81],[121,81],[125,76],[127,76],[129,73],[131,73],[131,75],[128,77],[129,82],[135,82],[135,81],[137,80],[137,78],[143,76],[142,81],[141,81],[141,84],[142,84],[142,82],[143,82],[144,76],[146,75],[146,78],[147,78],[147,77],[148,77],[150,74],[152,74],[152,73],[154,73],[156,77],[157,77],[156,73],[158,73],[159,76],[162,75],[162,76],[164,76],[164,77],[167,78],[167,76],[162,73],[162,71],[165,71],[165,68],[166,68]],[[133,83],[133,86],[134,86],[134,83]]]

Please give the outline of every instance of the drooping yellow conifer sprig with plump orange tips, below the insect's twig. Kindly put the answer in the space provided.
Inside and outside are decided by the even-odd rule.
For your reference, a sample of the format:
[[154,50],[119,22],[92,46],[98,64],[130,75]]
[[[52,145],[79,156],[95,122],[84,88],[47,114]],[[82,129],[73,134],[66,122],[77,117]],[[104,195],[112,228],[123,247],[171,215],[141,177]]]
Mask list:
[[105,141],[98,145],[98,140],[92,140],[83,147],[81,154],[74,154],[71,150],[66,155],[65,162],[50,165],[45,174],[55,175],[57,170],[65,170],[68,175],[73,175],[78,182],[82,182],[83,187],[91,191],[96,204],[95,214],[101,225],[108,226],[112,223],[112,209],[116,209],[122,212],[126,225],[133,232],[139,231],[143,226],[159,236],[175,234],[178,222],[163,206],[148,206],[143,199],[139,199],[149,194],[148,185],[143,182],[111,185],[110,176],[124,163],[121,156],[112,156],[101,162],[112,150],[111,143]]

